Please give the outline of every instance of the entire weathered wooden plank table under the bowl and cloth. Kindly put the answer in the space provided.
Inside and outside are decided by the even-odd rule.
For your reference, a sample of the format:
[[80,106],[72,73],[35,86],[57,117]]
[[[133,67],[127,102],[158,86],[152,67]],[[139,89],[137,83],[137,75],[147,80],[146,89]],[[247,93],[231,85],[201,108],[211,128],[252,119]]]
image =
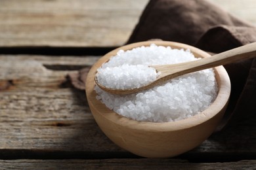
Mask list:
[[135,156],[96,125],[66,75],[125,43],[146,3],[0,2],[0,169],[256,168],[256,116],[166,159]]

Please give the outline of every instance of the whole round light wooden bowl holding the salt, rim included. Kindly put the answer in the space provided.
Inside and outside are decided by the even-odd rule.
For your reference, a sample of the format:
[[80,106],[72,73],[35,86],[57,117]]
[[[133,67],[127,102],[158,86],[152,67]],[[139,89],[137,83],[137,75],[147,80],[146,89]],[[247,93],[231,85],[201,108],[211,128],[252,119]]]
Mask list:
[[219,92],[215,101],[202,113],[176,122],[139,122],[120,116],[96,99],[96,69],[122,50],[150,44],[190,48],[196,57],[205,58],[209,54],[193,46],[168,41],[146,41],[121,46],[100,58],[89,71],[86,82],[87,100],[93,116],[102,131],[121,148],[147,158],[177,156],[201,144],[223,117],[230,96],[230,79],[223,66],[215,67],[215,77]]

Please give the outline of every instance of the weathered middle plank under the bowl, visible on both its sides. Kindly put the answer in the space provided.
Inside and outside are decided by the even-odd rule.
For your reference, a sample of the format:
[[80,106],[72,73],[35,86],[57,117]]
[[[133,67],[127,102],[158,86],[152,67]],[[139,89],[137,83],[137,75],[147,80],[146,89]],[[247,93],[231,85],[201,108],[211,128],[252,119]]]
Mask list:
[[[1,158],[133,157],[100,131],[85,92],[63,83],[66,74],[74,72],[68,67],[91,65],[96,59],[96,56],[0,56]],[[44,65],[60,65],[62,69],[49,70]],[[180,158],[255,158],[255,121],[256,114],[245,115],[234,126],[215,133]]]

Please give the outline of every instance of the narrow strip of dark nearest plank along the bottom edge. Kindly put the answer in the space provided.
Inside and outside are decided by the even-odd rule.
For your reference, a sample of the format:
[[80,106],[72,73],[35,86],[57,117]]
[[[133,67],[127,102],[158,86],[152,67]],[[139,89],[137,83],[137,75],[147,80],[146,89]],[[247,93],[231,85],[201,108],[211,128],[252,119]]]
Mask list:
[[175,159],[0,160],[3,169],[255,169],[256,160],[190,163]]

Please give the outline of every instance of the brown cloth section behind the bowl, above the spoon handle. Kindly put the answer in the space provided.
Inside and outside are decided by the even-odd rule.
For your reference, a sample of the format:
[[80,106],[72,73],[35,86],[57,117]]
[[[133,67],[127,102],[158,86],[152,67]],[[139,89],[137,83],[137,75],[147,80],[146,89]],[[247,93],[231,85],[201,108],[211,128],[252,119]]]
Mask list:
[[[205,0],[151,0],[127,43],[163,39],[195,46],[198,43],[204,43],[208,37],[213,38],[213,35],[218,35],[217,41],[221,44],[215,41],[214,45],[219,46],[217,52],[221,52],[240,46],[241,36],[244,36],[241,34],[246,34],[247,42],[253,41],[253,38],[249,36],[250,33],[237,27],[244,27],[246,30],[251,28],[249,30],[254,30],[253,33],[255,33],[252,25],[231,16],[228,12]],[[233,36],[228,37],[230,34]],[[225,36],[228,39],[225,39]],[[236,38],[238,38],[237,41]],[[227,46],[226,44],[223,46],[223,41],[232,43],[226,43]],[[242,40],[242,42],[245,41]],[[206,46],[200,47],[208,50]]]

